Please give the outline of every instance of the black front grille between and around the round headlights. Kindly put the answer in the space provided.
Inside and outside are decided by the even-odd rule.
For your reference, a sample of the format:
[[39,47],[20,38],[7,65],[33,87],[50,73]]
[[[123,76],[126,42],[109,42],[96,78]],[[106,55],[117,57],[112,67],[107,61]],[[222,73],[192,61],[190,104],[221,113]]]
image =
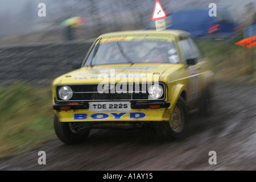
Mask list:
[[[163,96],[156,100],[165,99],[165,86],[162,82],[158,83],[162,86],[164,93]],[[109,86],[108,86],[109,85]],[[67,85],[73,90],[71,101],[143,101],[152,100],[149,97],[147,88],[152,84],[147,83],[134,83],[134,84],[83,84],[83,85]],[[64,85],[56,86],[57,101],[64,101],[58,96],[59,89]],[[100,91],[98,92],[98,87]],[[127,89],[126,89],[127,88]],[[119,91],[119,92],[118,92]]]

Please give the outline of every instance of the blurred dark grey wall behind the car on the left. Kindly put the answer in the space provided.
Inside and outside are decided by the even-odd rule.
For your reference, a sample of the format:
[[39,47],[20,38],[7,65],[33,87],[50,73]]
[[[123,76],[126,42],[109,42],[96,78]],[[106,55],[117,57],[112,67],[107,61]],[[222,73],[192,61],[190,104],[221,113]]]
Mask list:
[[0,85],[14,82],[51,85],[57,76],[72,71],[75,60],[83,60],[93,40],[33,43],[0,47]]

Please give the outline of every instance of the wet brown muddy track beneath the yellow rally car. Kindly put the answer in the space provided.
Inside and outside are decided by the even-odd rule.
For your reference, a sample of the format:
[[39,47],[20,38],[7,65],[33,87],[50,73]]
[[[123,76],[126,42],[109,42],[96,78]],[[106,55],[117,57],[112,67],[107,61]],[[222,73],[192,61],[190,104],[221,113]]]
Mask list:
[[[185,138],[163,142],[151,129],[92,130],[79,145],[59,140],[0,161],[0,170],[256,170],[256,86],[216,85],[214,113],[189,114]],[[46,152],[46,165],[38,164]],[[210,165],[209,151],[217,164]]]

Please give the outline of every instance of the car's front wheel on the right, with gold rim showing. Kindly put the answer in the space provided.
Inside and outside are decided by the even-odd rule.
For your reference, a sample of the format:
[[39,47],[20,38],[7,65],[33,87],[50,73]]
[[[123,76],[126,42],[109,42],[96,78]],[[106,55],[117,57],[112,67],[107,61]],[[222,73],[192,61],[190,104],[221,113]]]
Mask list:
[[155,131],[160,139],[182,138],[187,130],[187,107],[182,97],[177,100],[168,122],[155,122]]

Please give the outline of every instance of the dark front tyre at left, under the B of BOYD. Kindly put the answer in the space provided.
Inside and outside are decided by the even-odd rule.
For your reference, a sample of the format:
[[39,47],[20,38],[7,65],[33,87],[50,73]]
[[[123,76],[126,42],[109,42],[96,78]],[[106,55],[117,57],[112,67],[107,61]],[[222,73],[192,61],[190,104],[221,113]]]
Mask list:
[[60,122],[56,114],[53,123],[57,137],[66,144],[81,143],[90,133],[90,129],[84,129],[82,122]]

